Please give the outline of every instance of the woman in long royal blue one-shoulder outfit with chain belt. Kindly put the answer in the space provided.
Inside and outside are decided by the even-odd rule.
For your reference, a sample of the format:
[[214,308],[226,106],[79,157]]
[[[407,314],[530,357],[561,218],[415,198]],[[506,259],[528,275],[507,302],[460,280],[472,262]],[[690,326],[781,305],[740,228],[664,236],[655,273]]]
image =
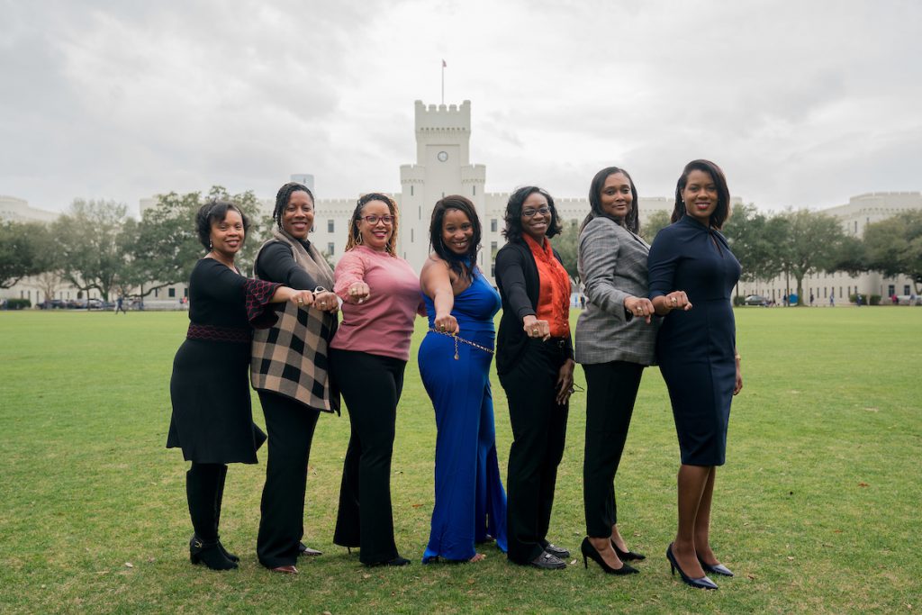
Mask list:
[[423,563],[478,562],[475,545],[495,538],[506,550],[506,494],[496,458],[490,364],[500,296],[476,266],[477,211],[464,196],[432,209],[433,254],[420,285],[429,334],[420,374],[435,408],[435,507]]

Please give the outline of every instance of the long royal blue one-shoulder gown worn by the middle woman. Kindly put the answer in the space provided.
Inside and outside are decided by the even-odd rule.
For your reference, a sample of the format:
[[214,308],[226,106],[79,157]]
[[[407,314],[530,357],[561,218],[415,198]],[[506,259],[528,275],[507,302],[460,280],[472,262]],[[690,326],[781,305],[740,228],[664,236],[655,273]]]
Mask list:
[[[435,306],[423,296],[429,326]],[[452,315],[459,337],[493,348],[493,316],[500,295],[477,272],[471,285],[455,296]],[[506,494],[496,458],[493,398],[490,390],[492,354],[469,344],[429,332],[420,345],[420,373],[435,408],[435,507],[429,545],[423,562],[435,558],[467,561],[475,543],[487,535],[506,550]]]

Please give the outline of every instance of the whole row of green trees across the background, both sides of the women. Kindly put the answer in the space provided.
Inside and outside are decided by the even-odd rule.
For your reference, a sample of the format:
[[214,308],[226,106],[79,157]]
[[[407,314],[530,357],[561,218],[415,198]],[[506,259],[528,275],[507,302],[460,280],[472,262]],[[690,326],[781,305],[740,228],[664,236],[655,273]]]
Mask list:
[[[253,191],[230,195],[224,187],[212,186],[205,195],[160,195],[157,205],[140,219],[127,217],[123,204],[77,199],[48,224],[0,224],[0,289],[32,278],[49,299],[66,282],[84,292],[96,290],[109,301],[113,294],[143,298],[185,282],[203,253],[195,234],[195,212],[206,198],[229,199],[251,219],[250,241],[238,256],[242,267],[250,266],[272,220],[260,213]],[[666,211],[654,212],[641,228],[644,239],[653,242],[668,218]],[[580,220],[566,220],[554,239],[577,284],[579,225]],[[871,223],[859,239],[822,212],[787,209],[765,214],[752,204],[738,204],[723,232],[742,265],[743,281],[785,276],[795,282],[800,302],[803,279],[820,271],[905,275],[912,278],[916,294],[922,294],[922,211]]]

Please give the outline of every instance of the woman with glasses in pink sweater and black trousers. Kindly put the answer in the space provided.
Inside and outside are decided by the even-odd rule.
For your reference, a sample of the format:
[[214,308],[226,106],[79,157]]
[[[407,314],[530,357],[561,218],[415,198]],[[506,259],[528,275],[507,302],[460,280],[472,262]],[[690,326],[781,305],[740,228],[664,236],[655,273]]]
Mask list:
[[419,278],[396,256],[396,232],[396,203],[363,195],[336,269],[343,320],[330,344],[330,374],[349,409],[351,436],[333,542],[359,547],[366,566],[409,563],[394,543],[391,453],[413,320],[425,311]]

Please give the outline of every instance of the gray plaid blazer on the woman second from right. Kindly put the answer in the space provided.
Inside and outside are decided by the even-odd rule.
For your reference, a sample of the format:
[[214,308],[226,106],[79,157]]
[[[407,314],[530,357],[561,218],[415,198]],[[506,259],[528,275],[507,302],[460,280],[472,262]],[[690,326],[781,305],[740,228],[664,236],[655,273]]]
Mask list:
[[576,321],[576,361],[656,363],[656,331],[661,318],[646,324],[624,313],[627,297],[646,297],[646,256],[650,246],[612,219],[597,217],[579,236],[579,275],[585,310]]

